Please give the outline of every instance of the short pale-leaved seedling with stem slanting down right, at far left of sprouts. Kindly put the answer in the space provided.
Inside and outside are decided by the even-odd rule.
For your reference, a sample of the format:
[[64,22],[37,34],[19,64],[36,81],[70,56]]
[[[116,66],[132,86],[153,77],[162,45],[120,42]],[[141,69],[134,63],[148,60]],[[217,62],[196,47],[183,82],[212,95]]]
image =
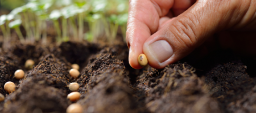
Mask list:
[[20,19],[14,20],[9,23],[9,27],[12,29],[15,29],[15,32],[18,34],[20,42],[22,42],[24,44],[25,40],[24,40],[24,37],[22,36],[22,33],[20,32],[20,29],[19,29],[20,24],[22,24],[22,21]]

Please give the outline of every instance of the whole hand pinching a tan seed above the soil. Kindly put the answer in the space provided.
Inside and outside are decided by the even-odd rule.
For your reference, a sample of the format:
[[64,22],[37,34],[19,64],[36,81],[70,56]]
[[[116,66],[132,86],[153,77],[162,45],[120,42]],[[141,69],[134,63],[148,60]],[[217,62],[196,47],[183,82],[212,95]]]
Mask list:
[[[256,0],[130,0],[126,42],[131,67],[139,54],[148,64],[164,68],[197,47],[219,45],[256,53]],[[206,46],[206,47],[205,47]]]

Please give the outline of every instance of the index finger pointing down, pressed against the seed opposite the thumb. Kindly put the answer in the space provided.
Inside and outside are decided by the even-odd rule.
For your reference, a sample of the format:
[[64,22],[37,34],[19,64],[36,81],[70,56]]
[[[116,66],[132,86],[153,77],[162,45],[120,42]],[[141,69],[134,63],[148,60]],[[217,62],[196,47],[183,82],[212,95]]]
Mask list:
[[135,69],[142,68],[137,57],[143,53],[143,44],[158,29],[159,18],[168,13],[173,0],[130,0],[126,42],[130,49],[129,63]]

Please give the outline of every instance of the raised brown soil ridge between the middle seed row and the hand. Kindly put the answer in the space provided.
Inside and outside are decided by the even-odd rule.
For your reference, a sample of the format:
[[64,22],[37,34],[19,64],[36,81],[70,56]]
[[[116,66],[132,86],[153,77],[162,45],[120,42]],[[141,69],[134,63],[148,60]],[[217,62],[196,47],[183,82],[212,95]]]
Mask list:
[[[122,51],[121,51],[122,53]],[[133,97],[118,47],[105,48],[90,58],[78,80],[84,112],[144,112]]]

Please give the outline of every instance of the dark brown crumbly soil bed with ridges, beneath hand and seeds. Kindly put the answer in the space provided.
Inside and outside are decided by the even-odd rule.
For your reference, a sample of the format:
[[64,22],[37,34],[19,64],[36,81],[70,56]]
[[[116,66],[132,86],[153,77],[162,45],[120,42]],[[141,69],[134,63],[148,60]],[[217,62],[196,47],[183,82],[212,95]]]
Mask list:
[[[217,50],[196,63],[182,60],[163,69],[129,66],[129,50],[89,42],[63,42],[59,46],[16,43],[0,51],[0,112],[65,112],[80,103],[84,112],[256,112],[254,58]],[[27,59],[35,61],[24,68]],[[71,65],[80,66],[77,79]],[[16,80],[14,72],[26,76]],[[7,93],[7,81],[16,84]],[[80,84],[81,97],[71,102],[68,84]]]

